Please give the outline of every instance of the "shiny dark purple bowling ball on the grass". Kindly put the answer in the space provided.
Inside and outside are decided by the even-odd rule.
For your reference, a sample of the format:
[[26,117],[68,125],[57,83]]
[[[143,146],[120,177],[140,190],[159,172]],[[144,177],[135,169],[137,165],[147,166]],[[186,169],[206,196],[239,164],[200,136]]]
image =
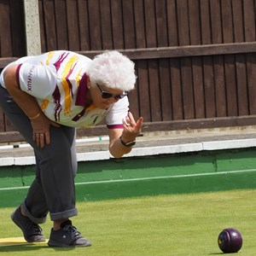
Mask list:
[[236,229],[225,229],[218,235],[218,247],[223,253],[237,253],[242,246],[242,237]]

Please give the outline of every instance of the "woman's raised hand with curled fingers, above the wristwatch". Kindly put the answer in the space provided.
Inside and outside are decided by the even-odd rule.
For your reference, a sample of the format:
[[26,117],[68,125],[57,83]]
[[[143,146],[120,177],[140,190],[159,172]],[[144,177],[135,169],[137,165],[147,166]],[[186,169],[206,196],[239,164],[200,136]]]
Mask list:
[[122,134],[122,140],[126,142],[134,141],[137,135],[142,131],[143,117],[140,117],[135,121],[131,112],[128,113],[125,119],[123,119],[124,131]]

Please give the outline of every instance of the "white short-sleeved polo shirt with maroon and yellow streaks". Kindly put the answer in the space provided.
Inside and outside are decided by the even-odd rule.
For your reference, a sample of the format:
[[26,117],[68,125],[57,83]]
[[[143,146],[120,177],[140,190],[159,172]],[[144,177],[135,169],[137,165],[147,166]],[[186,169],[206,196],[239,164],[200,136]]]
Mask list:
[[[127,97],[113,103],[108,109],[96,108],[93,103],[85,108],[86,70],[90,62],[84,55],[56,50],[22,57],[9,66],[19,65],[16,79],[20,90],[34,96],[45,115],[56,123],[86,128],[105,119],[108,128],[122,128],[122,120],[129,110]],[[5,87],[3,73],[4,69],[0,83]]]

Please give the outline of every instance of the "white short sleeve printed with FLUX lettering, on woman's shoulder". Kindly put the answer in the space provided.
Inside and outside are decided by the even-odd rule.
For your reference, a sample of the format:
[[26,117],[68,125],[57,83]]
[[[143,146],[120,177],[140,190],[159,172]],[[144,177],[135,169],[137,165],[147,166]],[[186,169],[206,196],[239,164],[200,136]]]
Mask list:
[[44,99],[51,96],[57,83],[54,65],[20,64],[16,73],[20,90],[36,98]]

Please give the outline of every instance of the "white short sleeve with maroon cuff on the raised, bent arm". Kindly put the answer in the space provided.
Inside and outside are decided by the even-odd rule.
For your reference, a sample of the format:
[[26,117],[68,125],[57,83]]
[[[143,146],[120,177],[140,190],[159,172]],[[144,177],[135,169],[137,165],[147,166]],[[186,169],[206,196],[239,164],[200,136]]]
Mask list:
[[123,119],[127,116],[128,111],[129,101],[127,96],[114,103],[106,115],[108,129],[122,129]]

